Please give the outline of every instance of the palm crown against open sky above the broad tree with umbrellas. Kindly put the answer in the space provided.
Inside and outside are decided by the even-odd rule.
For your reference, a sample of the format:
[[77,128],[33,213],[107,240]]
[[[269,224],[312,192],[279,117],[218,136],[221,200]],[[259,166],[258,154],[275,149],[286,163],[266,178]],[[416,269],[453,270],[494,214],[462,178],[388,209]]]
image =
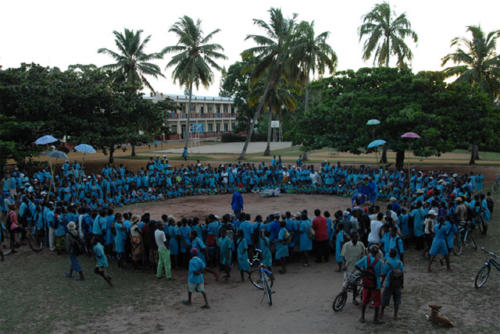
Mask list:
[[405,60],[411,61],[413,58],[405,39],[409,37],[417,42],[418,36],[411,29],[406,14],[397,16],[387,2],[376,4],[363,17],[363,24],[358,32],[360,41],[366,37],[363,60],[368,60],[373,55],[373,64],[389,67],[389,58],[393,54],[397,57],[397,66],[403,67],[406,66]]

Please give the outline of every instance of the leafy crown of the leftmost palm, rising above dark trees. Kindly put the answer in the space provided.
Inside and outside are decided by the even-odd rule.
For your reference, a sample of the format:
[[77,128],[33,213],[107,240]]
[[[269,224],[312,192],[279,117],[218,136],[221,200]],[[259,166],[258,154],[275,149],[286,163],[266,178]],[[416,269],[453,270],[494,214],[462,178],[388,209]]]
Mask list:
[[147,54],[144,52],[151,35],[142,39],[142,30],[134,31],[129,29],[125,29],[123,33],[113,31],[113,34],[119,51],[115,52],[107,48],[100,48],[97,52],[111,56],[116,63],[104,65],[103,68],[115,71],[118,80],[127,82],[135,90],[147,86],[154,92],[146,77],[163,77],[160,67],[150,62],[151,60],[161,59],[162,54]]

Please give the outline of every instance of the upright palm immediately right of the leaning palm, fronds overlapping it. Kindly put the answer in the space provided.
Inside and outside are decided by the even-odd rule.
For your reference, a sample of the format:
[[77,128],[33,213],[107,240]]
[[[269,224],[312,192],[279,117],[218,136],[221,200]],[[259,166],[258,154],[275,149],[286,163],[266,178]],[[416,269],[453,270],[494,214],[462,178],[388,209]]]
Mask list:
[[[303,21],[297,26],[296,39],[293,45],[293,57],[299,63],[301,81],[304,87],[304,112],[309,110],[310,75],[316,72],[322,76],[328,69],[333,74],[337,67],[337,54],[328,44],[330,32],[315,35],[314,21]],[[307,151],[304,151],[307,160]]]

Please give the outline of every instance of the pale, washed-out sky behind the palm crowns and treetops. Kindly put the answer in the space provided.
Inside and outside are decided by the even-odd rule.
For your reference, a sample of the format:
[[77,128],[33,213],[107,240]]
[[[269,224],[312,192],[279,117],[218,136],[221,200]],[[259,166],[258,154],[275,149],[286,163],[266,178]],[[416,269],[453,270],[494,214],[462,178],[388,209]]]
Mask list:
[[[143,36],[152,35],[146,52],[158,52],[174,45],[176,37],[168,29],[183,15],[201,19],[207,34],[221,31],[213,38],[221,44],[228,57],[220,65],[229,67],[240,59],[240,53],[254,46],[245,41],[248,34],[263,32],[253,24],[254,18],[269,21],[268,10],[281,8],[284,15],[298,14],[299,20],[315,21],[316,33],[330,32],[329,43],[337,53],[337,70],[372,66],[372,61],[361,58],[362,42],[357,29],[361,18],[376,3],[372,0],[4,0],[0,2],[0,65],[18,67],[22,62],[57,66],[65,70],[71,64],[102,66],[112,59],[98,54],[106,47],[116,50],[113,30],[142,29]],[[450,41],[467,36],[467,25],[481,25],[483,31],[500,29],[498,0],[392,0],[396,14],[405,12],[418,34],[416,44],[408,41],[413,50],[412,68],[441,70],[441,58],[450,53]],[[170,55],[157,61],[165,78],[151,78],[157,92],[182,94],[184,88],[171,79],[171,70],[165,69]],[[393,64],[392,64],[393,65]],[[195,94],[216,96],[220,74],[213,84],[200,87]],[[147,92],[147,91],[146,91]]]

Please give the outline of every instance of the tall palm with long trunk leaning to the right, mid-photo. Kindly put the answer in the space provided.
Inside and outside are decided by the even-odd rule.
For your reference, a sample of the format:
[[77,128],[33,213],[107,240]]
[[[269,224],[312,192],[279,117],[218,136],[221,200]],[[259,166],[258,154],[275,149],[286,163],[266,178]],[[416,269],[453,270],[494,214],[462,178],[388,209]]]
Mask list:
[[256,125],[260,113],[264,107],[271,89],[276,89],[280,78],[287,82],[293,81],[293,73],[296,72],[291,59],[290,44],[293,41],[295,30],[295,18],[286,19],[283,17],[281,9],[271,8],[269,24],[260,19],[254,19],[255,25],[265,31],[265,35],[248,35],[246,39],[252,39],[257,46],[243,51],[242,56],[254,56],[257,58],[257,64],[252,68],[252,82],[255,84],[259,80],[264,80],[264,89],[260,96],[257,110],[252,121],[248,125],[247,138],[239,156],[239,160],[245,158],[248,143],[252,138],[254,126]]

